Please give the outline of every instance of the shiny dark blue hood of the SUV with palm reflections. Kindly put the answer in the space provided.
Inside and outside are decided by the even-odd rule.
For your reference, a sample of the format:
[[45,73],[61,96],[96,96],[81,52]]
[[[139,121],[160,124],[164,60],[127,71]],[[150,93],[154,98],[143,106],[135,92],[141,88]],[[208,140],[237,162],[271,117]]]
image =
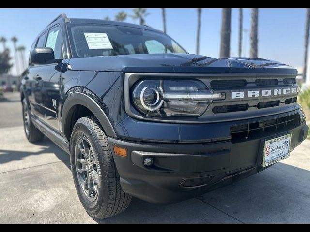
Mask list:
[[72,70],[136,73],[297,73],[261,58],[211,58],[192,54],[134,54],[72,58]]

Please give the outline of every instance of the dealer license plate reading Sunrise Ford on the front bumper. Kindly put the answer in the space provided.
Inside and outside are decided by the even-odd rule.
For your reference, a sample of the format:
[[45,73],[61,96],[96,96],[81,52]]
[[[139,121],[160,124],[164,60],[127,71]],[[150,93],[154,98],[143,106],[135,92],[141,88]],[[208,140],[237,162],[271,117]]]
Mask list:
[[265,141],[263,149],[263,167],[290,157],[292,134]]

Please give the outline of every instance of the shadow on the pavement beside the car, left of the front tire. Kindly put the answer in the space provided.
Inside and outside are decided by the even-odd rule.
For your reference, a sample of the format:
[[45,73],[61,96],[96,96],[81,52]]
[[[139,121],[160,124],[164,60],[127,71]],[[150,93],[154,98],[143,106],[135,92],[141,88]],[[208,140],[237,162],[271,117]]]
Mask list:
[[[45,137],[42,142],[33,143],[33,145],[39,145],[41,146],[41,149],[36,152],[0,149],[0,164],[14,160],[22,160],[26,156],[41,155],[46,153],[54,153],[55,156],[61,161],[69,160],[69,155],[47,137]],[[70,162],[63,163],[70,169]]]

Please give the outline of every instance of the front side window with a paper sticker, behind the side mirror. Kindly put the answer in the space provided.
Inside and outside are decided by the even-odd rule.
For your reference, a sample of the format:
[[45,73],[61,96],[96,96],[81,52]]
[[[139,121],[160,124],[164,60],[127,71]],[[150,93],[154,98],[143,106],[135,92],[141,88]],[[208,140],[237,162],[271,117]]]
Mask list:
[[55,59],[62,59],[62,35],[59,27],[50,29],[47,35],[47,43],[45,47],[54,50]]

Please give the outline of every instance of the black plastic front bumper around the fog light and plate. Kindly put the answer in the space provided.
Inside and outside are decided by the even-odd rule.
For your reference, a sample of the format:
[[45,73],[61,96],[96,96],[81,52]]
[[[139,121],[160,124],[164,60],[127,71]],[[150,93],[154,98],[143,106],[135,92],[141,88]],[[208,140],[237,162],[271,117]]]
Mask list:
[[[306,138],[308,127],[302,121],[293,129],[239,143],[149,143],[111,137],[108,140],[123,190],[147,202],[166,204],[262,171],[262,141],[286,133],[292,133],[292,150]],[[114,145],[126,148],[127,157],[115,155]],[[144,157],[153,157],[151,168],[143,165]]]

